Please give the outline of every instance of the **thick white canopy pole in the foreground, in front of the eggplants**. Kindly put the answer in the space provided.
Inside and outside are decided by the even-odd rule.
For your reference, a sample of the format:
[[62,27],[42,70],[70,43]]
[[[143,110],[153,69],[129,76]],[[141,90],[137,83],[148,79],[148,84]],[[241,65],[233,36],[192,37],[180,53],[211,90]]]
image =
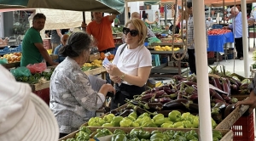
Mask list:
[[207,33],[204,1],[193,0],[195,64],[200,118],[199,140],[212,141],[212,117],[207,65]]

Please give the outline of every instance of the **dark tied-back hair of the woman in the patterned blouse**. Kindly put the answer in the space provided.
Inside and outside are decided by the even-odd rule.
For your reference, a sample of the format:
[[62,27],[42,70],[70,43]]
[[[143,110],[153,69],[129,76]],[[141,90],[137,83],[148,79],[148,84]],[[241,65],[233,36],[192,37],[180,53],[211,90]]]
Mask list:
[[68,37],[67,45],[60,48],[60,54],[63,57],[78,57],[83,53],[84,49],[90,47],[90,36],[83,31],[73,32]]

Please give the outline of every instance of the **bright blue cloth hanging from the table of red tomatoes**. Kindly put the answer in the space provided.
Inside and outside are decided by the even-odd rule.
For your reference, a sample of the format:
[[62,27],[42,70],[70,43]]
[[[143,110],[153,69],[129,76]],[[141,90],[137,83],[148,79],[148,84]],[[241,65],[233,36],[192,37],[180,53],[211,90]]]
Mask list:
[[224,44],[227,42],[234,42],[234,34],[232,32],[225,33],[223,35],[209,35],[207,48],[208,52],[223,52],[224,53]]

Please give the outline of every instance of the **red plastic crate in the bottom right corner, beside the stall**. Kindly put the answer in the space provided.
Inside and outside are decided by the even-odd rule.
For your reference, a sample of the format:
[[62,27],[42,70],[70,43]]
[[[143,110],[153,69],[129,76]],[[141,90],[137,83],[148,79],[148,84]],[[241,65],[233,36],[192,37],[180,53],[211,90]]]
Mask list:
[[249,116],[241,116],[231,127],[231,130],[234,133],[234,141],[253,141],[253,112]]

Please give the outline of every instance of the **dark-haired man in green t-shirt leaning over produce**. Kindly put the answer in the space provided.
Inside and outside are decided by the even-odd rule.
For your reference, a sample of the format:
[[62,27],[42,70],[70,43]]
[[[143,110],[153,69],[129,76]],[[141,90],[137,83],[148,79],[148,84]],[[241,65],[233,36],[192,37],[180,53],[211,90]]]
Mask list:
[[46,17],[44,14],[35,14],[32,27],[26,31],[22,40],[22,56],[20,66],[41,63],[45,59],[49,65],[58,65],[50,57],[44,48],[40,31],[44,29]]

